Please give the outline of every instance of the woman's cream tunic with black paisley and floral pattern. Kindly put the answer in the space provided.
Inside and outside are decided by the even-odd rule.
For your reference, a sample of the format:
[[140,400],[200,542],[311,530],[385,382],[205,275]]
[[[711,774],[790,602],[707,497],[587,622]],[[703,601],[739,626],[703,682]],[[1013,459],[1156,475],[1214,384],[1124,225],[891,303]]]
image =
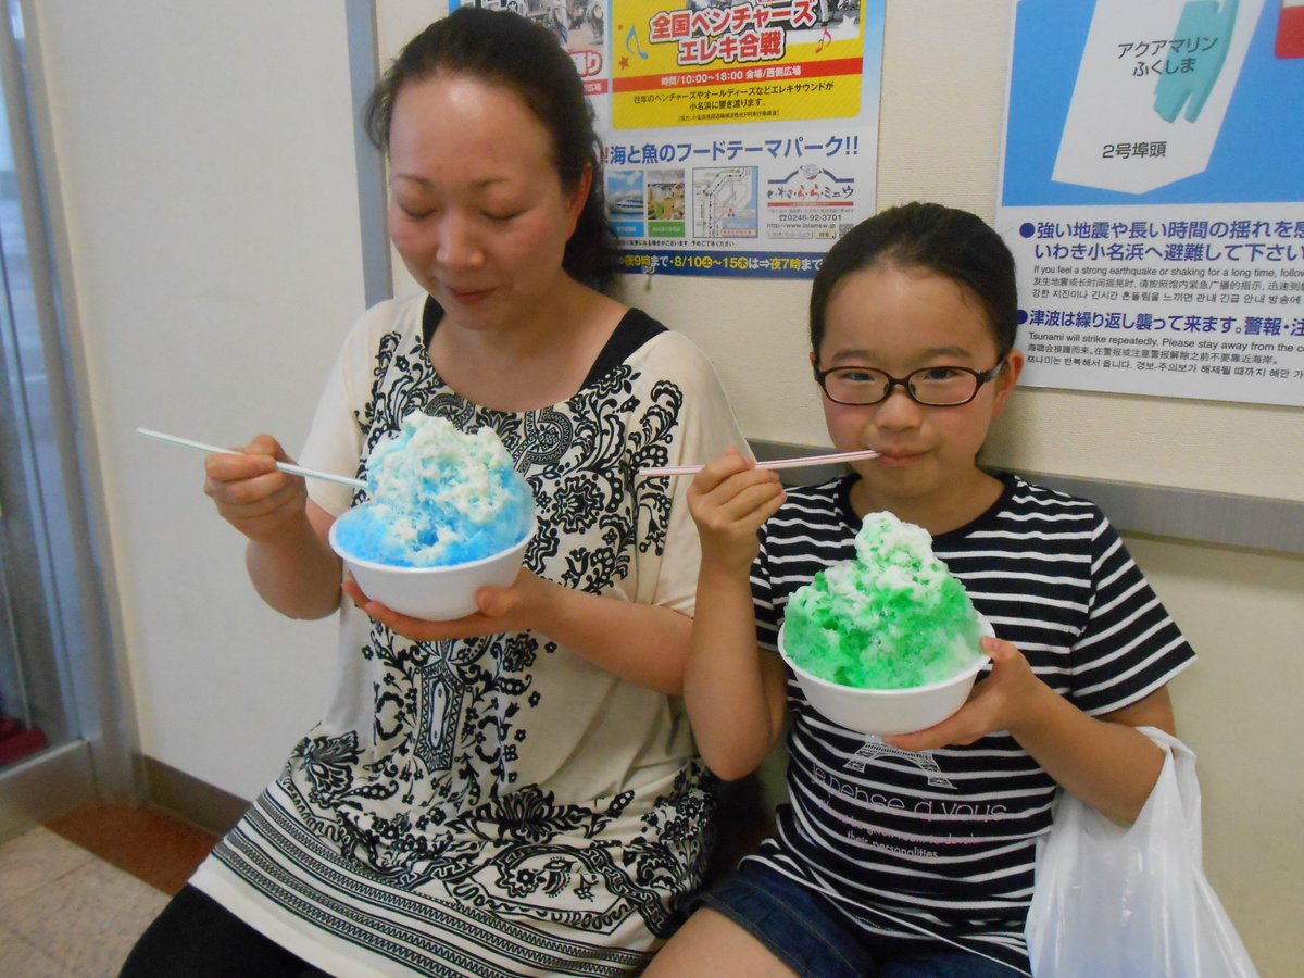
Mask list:
[[[489,425],[535,494],[529,570],[691,613],[689,480],[635,473],[743,443],[705,357],[631,310],[567,402],[489,411],[430,366],[430,309],[391,301],[357,323],[303,464],[361,475],[413,411]],[[310,485],[333,515],[351,492]],[[539,632],[413,643],[351,602],[339,617],[325,716],[192,882],[334,974],[645,965],[708,848],[713,802],[682,700]]]

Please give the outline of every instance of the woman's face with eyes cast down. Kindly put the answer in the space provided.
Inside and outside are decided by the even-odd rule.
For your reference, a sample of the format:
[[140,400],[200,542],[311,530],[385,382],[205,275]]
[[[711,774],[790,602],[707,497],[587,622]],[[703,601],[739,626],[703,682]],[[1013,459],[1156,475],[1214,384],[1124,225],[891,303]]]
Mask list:
[[546,308],[589,180],[562,186],[548,129],[510,89],[446,73],[399,89],[390,239],[456,325],[492,330]]

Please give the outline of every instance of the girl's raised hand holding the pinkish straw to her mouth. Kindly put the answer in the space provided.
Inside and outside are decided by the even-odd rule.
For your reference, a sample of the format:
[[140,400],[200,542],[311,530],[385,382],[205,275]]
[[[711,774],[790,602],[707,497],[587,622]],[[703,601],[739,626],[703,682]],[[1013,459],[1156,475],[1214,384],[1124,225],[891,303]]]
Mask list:
[[760,544],[756,531],[784,505],[778,475],[756,468],[737,449],[698,472],[689,488],[689,512],[698,524],[703,562],[746,571]]

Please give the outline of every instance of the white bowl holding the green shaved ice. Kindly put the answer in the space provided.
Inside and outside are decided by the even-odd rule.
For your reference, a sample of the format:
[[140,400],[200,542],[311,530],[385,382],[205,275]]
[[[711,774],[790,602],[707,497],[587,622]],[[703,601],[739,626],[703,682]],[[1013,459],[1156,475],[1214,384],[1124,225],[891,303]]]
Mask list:
[[[995,635],[987,619],[981,621],[983,635]],[[778,629],[778,655],[816,711],[848,730],[865,734],[914,733],[940,724],[964,705],[983,662],[988,661],[987,656],[979,656],[964,672],[927,686],[862,690],[822,679],[797,665],[784,651],[784,626]]]

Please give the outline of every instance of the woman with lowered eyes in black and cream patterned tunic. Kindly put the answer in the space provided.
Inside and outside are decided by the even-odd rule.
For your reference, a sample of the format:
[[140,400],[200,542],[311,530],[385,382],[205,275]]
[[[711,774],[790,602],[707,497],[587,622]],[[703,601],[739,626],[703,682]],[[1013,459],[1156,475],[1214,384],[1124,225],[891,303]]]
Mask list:
[[459,9],[399,55],[368,124],[391,239],[428,295],[357,323],[301,462],[361,473],[413,411],[488,425],[539,531],[477,614],[417,622],[349,584],[369,617],[340,606],[326,544],[347,488],[279,472],[266,436],[209,459],[259,595],[339,613],[340,679],[125,973],[261,955],[287,974],[634,971],[700,879],[711,810],[678,699],[687,485],[638,469],[742,438],[696,348],[601,291],[615,254],[592,113],[546,30]]

